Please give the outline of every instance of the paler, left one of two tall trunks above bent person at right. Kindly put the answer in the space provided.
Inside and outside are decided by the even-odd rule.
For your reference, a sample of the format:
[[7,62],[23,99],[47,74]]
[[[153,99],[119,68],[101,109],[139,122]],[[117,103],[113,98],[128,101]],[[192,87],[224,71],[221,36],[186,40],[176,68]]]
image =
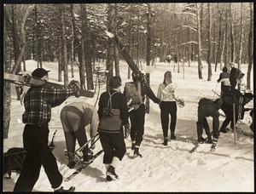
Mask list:
[[198,77],[202,79],[201,73],[201,19],[199,14],[198,3],[196,4],[196,20],[197,20],[197,37],[198,37]]

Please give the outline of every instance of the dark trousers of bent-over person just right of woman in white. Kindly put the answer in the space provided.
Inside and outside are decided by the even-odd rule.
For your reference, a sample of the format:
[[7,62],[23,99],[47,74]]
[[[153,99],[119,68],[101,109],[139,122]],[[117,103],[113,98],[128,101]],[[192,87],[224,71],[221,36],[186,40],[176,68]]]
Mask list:
[[212,117],[212,131],[213,131],[213,138],[218,140],[219,136],[219,120],[218,120],[218,111],[217,110],[210,110],[207,109],[207,106],[198,106],[198,112],[197,112],[197,137],[198,139],[201,137],[203,133],[203,128],[206,131],[206,134],[208,137],[211,137],[211,130],[207,122],[207,117],[211,116]]

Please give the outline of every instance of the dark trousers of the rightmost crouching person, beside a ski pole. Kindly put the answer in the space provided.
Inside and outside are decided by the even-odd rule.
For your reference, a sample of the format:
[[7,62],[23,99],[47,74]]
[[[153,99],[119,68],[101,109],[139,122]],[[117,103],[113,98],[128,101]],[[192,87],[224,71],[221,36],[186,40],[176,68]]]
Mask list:
[[[230,128],[234,128],[233,106],[230,106],[230,105],[224,103],[221,106],[221,110],[224,111],[224,114],[226,116],[224,122],[222,123],[221,128],[226,128],[229,124],[230,124]],[[235,119],[235,121],[236,122],[238,121],[237,110],[236,110],[236,119]]]

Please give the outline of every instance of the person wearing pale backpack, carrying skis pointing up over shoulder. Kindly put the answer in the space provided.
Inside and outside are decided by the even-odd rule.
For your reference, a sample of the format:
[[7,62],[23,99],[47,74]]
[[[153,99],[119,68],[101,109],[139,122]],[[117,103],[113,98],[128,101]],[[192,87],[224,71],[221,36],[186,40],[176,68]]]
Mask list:
[[[146,106],[143,102],[145,100],[145,95],[147,95],[150,100],[153,100],[154,103],[157,104],[160,103],[160,99],[158,99],[154,95],[152,89],[146,84],[147,81],[143,77],[143,74],[141,75],[141,77],[137,77],[137,75],[134,72],[132,72],[131,77],[134,83],[139,82],[141,88],[141,91],[139,91],[139,93],[142,98],[141,102],[137,102],[137,105],[134,105],[137,106],[137,108],[129,112],[129,117],[131,121],[131,150],[134,150],[134,157],[142,157],[142,154],[139,152],[139,148],[143,141],[144,134]],[[127,96],[127,94],[125,94],[125,96]]]

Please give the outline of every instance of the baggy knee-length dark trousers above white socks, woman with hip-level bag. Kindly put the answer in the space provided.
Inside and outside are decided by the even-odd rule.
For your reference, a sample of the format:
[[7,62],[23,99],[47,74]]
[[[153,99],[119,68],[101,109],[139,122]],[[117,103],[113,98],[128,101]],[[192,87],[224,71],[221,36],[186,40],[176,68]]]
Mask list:
[[103,163],[112,163],[113,157],[121,161],[125,156],[126,146],[123,129],[119,134],[99,132],[102,149],[104,151]]

